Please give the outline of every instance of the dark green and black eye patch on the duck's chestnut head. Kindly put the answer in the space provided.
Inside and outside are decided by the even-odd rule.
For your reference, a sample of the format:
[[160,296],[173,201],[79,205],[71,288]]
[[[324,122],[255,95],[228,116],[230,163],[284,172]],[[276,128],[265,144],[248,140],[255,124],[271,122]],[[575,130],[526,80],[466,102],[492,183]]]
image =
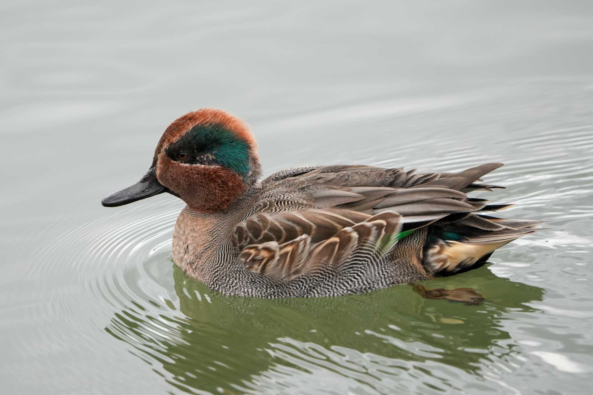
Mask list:
[[[249,144],[220,124],[196,125],[165,151],[173,160],[190,165],[219,165],[231,169],[240,176],[250,171]],[[187,154],[187,159],[178,159],[178,153]]]

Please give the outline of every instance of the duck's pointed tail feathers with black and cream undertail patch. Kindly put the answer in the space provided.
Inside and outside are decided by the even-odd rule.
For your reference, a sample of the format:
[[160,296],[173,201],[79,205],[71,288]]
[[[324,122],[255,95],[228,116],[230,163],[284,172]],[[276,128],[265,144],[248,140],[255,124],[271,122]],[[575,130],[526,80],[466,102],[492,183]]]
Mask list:
[[[502,163],[489,163],[458,174],[447,174],[422,186],[452,187],[463,192],[503,188],[475,183],[482,181],[479,179],[481,176],[499,166]],[[460,182],[449,185],[453,179]],[[489,201],[477,198],[467,198],[466,202],[477,210],[473,213],[452,214],[428,227],[422,264],[426,272],[434,277],[446,277],[479,268],[496,249],[519,237],[531,235],[540,229],[543,222],[509,220],[485,214],[487,211],[503,210],[512,204],[488,204]]]

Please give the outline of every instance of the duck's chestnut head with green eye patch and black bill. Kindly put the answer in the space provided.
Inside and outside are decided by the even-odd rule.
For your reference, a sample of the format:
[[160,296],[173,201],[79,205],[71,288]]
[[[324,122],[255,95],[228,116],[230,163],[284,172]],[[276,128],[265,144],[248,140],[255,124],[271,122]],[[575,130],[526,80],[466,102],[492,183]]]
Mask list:
[[202,108],[178,118],[157,144],[140,181],[101,201],[116,207],[169,192],[202,213],[222,211],[261,173],[249,127],[222,110]]

